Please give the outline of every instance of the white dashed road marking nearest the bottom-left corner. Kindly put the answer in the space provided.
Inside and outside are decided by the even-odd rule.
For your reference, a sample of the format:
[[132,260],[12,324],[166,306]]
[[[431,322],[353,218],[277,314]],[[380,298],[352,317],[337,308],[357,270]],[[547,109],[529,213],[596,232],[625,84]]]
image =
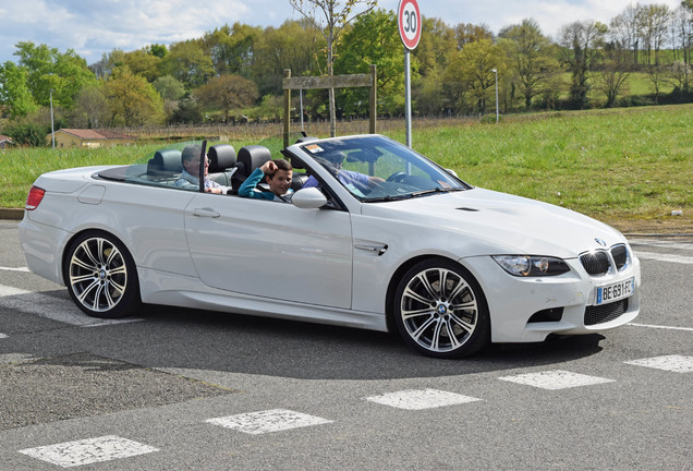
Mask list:
[[20,450],[21,454],[62,468],[129,458],[153,451],[159,450],[115,435]]

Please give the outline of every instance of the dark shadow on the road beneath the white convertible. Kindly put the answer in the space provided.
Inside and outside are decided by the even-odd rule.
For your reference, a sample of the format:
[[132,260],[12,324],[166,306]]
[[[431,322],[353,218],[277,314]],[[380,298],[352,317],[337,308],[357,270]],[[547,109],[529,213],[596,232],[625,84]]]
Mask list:
[[[594,355],[604,339],[491,345],[466,359],[440,360],[387,333],[165,306],[147,306],[138,317],[146,322],[109,327],[111,335],[129,333],[121,342],[139,350],[133,362],[301,379],[435,377],[550,365]],[[146,350],[136,348],[143,343]]]

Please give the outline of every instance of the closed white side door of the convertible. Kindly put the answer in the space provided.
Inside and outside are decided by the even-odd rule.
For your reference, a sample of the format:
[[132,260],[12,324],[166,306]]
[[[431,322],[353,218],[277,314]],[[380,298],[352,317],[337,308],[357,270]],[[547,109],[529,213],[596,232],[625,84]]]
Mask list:
[[185,231],[195,268],[207,286],[351,307],[348,212],[199,193],[185,209]]

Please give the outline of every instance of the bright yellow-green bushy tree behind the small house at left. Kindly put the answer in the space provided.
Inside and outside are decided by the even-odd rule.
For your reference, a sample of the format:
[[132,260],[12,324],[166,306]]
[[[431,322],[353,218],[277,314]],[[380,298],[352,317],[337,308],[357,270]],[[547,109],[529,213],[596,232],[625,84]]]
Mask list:
[[115,125],[159,124],[163,122],[163,101],[145,77],[126,67],[117,67],[104,85]]

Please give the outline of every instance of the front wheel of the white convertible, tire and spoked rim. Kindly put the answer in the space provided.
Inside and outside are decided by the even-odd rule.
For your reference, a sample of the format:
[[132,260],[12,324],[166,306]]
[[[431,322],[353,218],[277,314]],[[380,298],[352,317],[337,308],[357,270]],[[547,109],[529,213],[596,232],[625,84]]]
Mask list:
[[490,319],[481,287],[463,267],[433,258],[410,268],[393,299],[404,341],[435,358],[462,358],[490,342]]

